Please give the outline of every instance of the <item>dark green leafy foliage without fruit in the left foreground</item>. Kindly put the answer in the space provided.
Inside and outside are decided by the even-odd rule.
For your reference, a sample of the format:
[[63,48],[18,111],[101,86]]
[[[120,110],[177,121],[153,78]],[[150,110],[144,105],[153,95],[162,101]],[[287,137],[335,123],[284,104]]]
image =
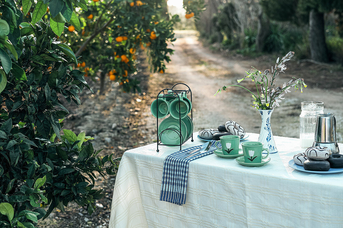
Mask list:
[[[90,89],[71,65],[77,63],[72,49],[56,40],[65,22],[80,27],[72,12],[80,2],[38,0],[31,9],[31,0],[0,0],[1,228],[35,227],[70,202],[92,213],[104,195],[94,189],[95,178],[115,174],[119,159],[97,156],[85,132],[62,129],[64,104],[79,105],[78,94]],[[29,11],[32,21],[23,22]]]

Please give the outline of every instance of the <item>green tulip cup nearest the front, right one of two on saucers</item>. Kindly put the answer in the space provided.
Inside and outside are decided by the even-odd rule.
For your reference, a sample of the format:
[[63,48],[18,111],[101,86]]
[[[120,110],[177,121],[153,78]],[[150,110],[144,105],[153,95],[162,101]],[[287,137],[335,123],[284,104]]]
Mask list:
[[[243,142],[243,155],[245,163],[261,163],[269,155],[269,150],[263,148],[262,142]],[[262,156],[262,151],[267,151],[267,155]]]

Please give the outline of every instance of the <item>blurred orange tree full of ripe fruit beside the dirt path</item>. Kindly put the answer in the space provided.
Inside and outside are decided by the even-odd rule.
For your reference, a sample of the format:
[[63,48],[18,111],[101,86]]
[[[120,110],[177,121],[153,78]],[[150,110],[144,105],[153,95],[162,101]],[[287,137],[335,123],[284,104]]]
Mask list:
[[81,31],[66,28],[68,35],[60,39],[82,55],[80,63],[85,62],[85,67],[80,67],[87,75],[95,77],[99,72],[100,91],[106,79],[117,81],[124,91],[139,91],[135,56],[146,49],[152,71],[164,73],[173,53],[167,45],[176,39],[173,25],[178,16],[167,19],[163,4],[164,0],[92,1],[87,11],[77,13]]

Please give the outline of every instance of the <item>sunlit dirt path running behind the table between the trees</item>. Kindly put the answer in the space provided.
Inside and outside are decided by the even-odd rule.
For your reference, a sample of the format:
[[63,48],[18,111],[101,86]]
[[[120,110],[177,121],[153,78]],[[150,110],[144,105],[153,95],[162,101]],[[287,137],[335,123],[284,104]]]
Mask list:
[[[209,48],[203,47],[194,31],[182,30],[177,31],[176,34],[177,40],[173,46],[175,52],[171,56],[172,61],[167,65],[165,77],[173,78],[175,82],[186,83],[192,89],[194,130],[216,128],[218,124],[233,119],[243,125],[246,131],[259,133],[260,115],[250,107],[252,98],[249,93],[235,88],[215,97],[213,94],[222,85],[237,84],[236,79],[242,78],[244,71],[250,69],[250,66],[255,66],[262,71],[275,61],[274,58],[266,61],[265,57],[250,60],[240,56],[223,57],[222,54],[213,53]],[[299,65],[295,61],[288,62],[286,74],[279,78],[280,84],[282,85],[284,81],[288,82],[294,76],[305,78],[309,86],[303,93],[293,91],[287,94],[282,105],[275,109],[272,116],[273,134],[299,137],[300,102],[319,100],[324,102],[324,112],[336,115],[338,140],[342,142],[343,88],[335,86],[335,89],[320,89],[319,87],[324,85],[322,75],[331,75],[332,72],[321,68],[322,75],[319,73],[313,75],[310,73],[313,67],[317,66]],[[343,75],[342,72],[336,72],[336,74]],[[310,77],[310,80],[307,80],[307,77]],[[318,79],[313,77],[318,77]],[[330,83],[330,81],[325,83]],[[331,83],[335,84],[335,81]],[[241,84],[249,86],[251,81],[244,81]]]

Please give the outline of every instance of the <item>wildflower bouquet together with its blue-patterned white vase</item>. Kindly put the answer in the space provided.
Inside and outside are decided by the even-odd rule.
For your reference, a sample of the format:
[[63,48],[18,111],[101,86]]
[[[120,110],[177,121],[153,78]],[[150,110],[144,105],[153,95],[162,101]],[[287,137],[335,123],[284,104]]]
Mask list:
[[[287,65],[285,62],[290,60],[294,56],[294,52],[288,52],[281,60],[277,58],[275,66],[271,67],[270,69],[266,69],[263,74],[258,71],[255,67],[252,67],[251,70],[246,71],[246,75],[244,78],[237,80],[238,83],[241,81],[250,78],[251,81],[255,83],[257,93],[251,92],[249,89],[239,86],[239,85],[228,85],[223,86],[222,88],[218,89],[218,91],[214,94],[221,93],[222,90],[227,90],[229,86],[238,86],[252,94],[254,99],[253,107],[256,110],[259,110],[261,117],[262,117],[262,125],[261,131],[259,136],[259,142],[263,142],[263,148],[268,148],[270,153],[276,153],[277,149],[275,147],[274,137],[272,134],[272,130],[270,127],[270,116],[273,113],[275,107],[280,106],[280,103],[283,99],[285,99],[285,95],[291,92],[291,88],[294,86],[294,90],[297,91],[299,88],[301,92],[303,92],[303,88],[306,88],[307,85],[304,82],[303,78],[295,78],[288,81],[288,83],[284,83],[282,86],[277,86],[277,76],[281,72],[285,73],[285,69]],[[259,88],[261,90],[259,90]]]

